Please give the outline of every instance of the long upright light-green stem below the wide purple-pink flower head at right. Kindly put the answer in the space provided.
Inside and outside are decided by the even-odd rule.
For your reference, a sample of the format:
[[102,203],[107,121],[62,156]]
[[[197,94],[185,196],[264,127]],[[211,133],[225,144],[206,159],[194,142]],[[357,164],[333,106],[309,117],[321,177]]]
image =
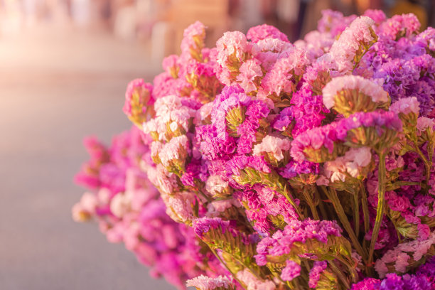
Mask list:
[[377,209],[375,226],[373,227],[372,240],[370,240],[369,256],[367,266],[372,267],[373,253],[375,252],[375,244],[379,235],[382,218],[385,212],[385,180],[387,179],[387,171],[385,169],[385,151],[378,153],[379,166],[377,168]]

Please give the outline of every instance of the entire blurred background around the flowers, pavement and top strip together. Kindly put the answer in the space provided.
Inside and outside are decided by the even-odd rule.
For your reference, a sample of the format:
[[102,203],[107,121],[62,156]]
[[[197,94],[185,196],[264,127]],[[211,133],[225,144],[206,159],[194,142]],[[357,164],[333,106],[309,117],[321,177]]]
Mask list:
[[292,41],[323,9],[345,15],[412,12],[434,26],[435,1],[394,0],[0,0],[0,289],[173,289],[149,277],[97,225],[70,208],[84,189],[73,176],[88,156],[84,136],[107,143],[130,127],[127,82],[151,81],[183,29],[277,26]]

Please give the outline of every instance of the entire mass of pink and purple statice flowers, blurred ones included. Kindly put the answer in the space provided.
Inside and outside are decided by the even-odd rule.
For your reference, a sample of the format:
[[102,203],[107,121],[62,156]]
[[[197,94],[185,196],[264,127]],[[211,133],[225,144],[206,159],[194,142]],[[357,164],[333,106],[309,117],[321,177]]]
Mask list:
[[[289,43],[273,26],[184,32],[135,125],[77,181],[96,218],[179,288],[435,289],[435,29],[413,14],[323,11]],[[187,280],[187,283],[184,282]]]

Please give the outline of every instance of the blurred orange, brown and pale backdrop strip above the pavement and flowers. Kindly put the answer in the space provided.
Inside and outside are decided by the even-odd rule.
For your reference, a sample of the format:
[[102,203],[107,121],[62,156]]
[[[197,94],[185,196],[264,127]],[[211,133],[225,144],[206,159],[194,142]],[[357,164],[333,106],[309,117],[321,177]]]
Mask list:
[[422,28],[434,26],[434,0],[0,0],[0,33],[41,25],[105,29],[119,38],[151,41],[159,61],[178,52],[183,29],[194,21],[208,26],[208,45],[224,31],[246,32],[260,23],[295,41],[316,28],[323,9],[349,15],[369,8],[389,16],[412,12]]

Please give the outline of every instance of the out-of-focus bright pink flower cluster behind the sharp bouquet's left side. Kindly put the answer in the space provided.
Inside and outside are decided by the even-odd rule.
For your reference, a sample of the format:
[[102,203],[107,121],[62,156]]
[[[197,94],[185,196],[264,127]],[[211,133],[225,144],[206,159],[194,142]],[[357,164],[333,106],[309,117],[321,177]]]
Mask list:
[[190,227],[166,215],[159,191],[140,165],[150,159],[150,141],[136,127],[114,136],[109,147],[93,137],[85,139],[90,161],[75,181],[90,191],[74,205],[73,218],[96,220],[109,242],[124,243],[139,262],[151,267],[151,276],[163,276],[184,289],[187,279],[215,276],[222,268],[211,252],[201,250],[205,245]]

